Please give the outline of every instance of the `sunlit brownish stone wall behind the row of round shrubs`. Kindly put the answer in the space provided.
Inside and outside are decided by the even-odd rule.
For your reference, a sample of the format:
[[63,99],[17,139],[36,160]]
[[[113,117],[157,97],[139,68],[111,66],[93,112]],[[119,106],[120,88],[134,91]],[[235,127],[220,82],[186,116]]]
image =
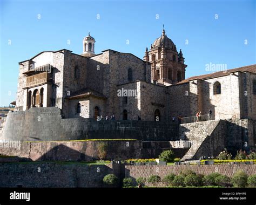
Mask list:
[[[177,165],[177,166],[125,166],[125,177],[132,177],[135,181],[138,177],[150,177],[151,175],[158,175],[163,179],[170,173],[179,174],[181,171],[190,169],[197,174],[208,175],[214,172],[232,177],[238,170],[243,170],[248,175],[256,174],[256,165]],[[146,182],[146,186],[152,186]],[[158,186],[165,186],[160,182]]]

